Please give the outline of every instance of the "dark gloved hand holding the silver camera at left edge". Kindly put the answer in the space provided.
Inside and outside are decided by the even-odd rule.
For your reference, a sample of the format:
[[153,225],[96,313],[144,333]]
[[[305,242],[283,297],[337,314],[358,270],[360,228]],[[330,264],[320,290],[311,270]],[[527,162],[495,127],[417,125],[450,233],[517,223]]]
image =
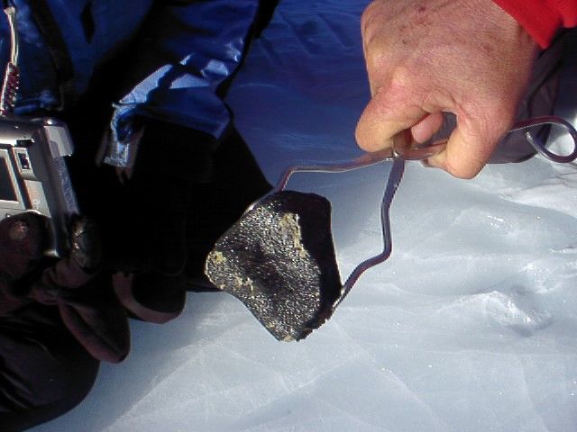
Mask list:
[[117,363],[130,349],[124,308],[111,276],[100,272],[96,227],[78,219],[71,228],[69,256],[49,260],[42,256],[48,238],[43,216],[26,212],[0,221],[0,314],[30,302],[53,305],[88,353]]

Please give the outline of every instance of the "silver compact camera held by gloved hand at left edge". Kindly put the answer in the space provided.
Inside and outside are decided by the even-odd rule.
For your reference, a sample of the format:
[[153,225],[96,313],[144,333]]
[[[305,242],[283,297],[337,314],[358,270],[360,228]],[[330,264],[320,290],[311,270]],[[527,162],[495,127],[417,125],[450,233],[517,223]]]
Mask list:
[[51,257],[69,250],[69,220],[78,214],[64,161],[72,152],[62,121],[0,117],[0,220],[24,211],[45,216]]

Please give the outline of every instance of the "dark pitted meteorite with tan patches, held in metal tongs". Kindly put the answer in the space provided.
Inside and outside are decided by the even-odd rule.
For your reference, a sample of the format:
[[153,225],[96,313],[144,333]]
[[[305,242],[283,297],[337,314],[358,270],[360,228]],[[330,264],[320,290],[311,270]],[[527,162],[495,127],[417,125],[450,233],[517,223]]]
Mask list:
[[218,239],[206,275],[275,338],[306,338],[342,290],[330,202],[315,193],[271,194]]

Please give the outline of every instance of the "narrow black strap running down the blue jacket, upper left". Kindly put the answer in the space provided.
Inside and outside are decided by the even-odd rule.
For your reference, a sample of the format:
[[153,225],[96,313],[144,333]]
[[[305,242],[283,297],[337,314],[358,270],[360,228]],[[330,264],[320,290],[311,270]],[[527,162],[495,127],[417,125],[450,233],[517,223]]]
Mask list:
[[50,11],[50,6],[45,0],[34,0],[30,2],[34,22],[41,31],[50,55],[56,67],[56,74],[60,86],[60,107],[73,103],[77,100],[76,89],[74,85],[74,65],[70,59],[69,49],[64,42],[60,27],[54,15]]

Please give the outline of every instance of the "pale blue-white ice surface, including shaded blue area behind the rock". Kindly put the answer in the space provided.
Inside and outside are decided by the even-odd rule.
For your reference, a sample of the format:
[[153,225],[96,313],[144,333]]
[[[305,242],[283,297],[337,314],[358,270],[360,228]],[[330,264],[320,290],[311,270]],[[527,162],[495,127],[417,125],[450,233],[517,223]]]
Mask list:
[[[255,43],[229,102],[271,181],[296,161],[360,154],[366,3],[284,0]],[[567,70],[557,112],[575,122]],[[343,274],[381,247],[388,172],[295,177],[334,203]],[[573,164],[534,157],[461,181],[409,162],[392,256],[307,339],[277,342],[232,296],[190,293],[179,319],[133,322],[131,356],[33,430],[576,430],[576,202]]]

